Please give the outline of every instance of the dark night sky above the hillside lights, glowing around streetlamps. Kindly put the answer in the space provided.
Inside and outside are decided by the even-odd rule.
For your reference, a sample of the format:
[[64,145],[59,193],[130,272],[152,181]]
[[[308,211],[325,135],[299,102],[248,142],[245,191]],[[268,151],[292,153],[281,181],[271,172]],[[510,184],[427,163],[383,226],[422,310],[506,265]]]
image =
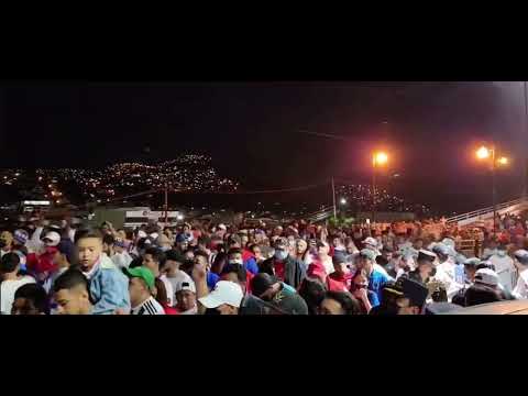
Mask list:
[[471,147],[494,139],[514,157],[501,172],[499,196],[522,189],[521,82],[42,82],[0,92],[1,167],[196,152],[246,188],[287,188],[332,175],[367,183],[370,152],[385,145],[391,173],[402,175],[394,188],[407,198],[471,208],[490,204],[490,179]]

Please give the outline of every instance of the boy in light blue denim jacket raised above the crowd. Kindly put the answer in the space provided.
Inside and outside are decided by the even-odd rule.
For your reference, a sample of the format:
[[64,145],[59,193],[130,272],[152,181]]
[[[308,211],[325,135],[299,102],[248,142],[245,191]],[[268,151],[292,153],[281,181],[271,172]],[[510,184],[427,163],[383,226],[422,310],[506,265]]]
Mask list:
[[130,309],[128,279],[112,261],[102,254],[102,235],[97,230],[78,230],[75,234],[80,270],[90,280],[94,314],[114,314]]

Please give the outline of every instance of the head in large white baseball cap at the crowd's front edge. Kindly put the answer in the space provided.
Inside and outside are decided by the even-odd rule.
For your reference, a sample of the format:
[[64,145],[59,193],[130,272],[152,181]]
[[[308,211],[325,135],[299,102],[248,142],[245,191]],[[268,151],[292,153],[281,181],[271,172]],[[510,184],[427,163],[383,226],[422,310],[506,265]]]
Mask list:
[[198,300],[206,307],[206,314],[238,315],[243,298],[244,294],[240,285],[220,280],[209,295]]

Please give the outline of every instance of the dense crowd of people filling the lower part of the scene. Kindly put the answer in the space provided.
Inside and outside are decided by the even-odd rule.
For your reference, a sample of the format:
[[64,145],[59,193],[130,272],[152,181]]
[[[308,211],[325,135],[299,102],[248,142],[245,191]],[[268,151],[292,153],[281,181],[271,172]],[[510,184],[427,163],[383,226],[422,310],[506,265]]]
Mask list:
[[[1,315],[427,315],[528,298],[527,222],[114,229],[38,219],[0,233]],[[462,252],[473,238],[475,254]]]

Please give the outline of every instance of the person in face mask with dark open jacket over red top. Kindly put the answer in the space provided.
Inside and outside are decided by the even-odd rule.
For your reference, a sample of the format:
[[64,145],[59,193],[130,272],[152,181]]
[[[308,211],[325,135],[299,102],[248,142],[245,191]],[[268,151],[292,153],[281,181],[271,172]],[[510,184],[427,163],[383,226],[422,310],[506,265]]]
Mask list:
[[[333,270],[333,268],[332,268]],[[279,238],[275,242],[275,255],[262,263],[261,272],[276,276],[297,289],[306,276],[305,265],[288,254],[288,242]]]

